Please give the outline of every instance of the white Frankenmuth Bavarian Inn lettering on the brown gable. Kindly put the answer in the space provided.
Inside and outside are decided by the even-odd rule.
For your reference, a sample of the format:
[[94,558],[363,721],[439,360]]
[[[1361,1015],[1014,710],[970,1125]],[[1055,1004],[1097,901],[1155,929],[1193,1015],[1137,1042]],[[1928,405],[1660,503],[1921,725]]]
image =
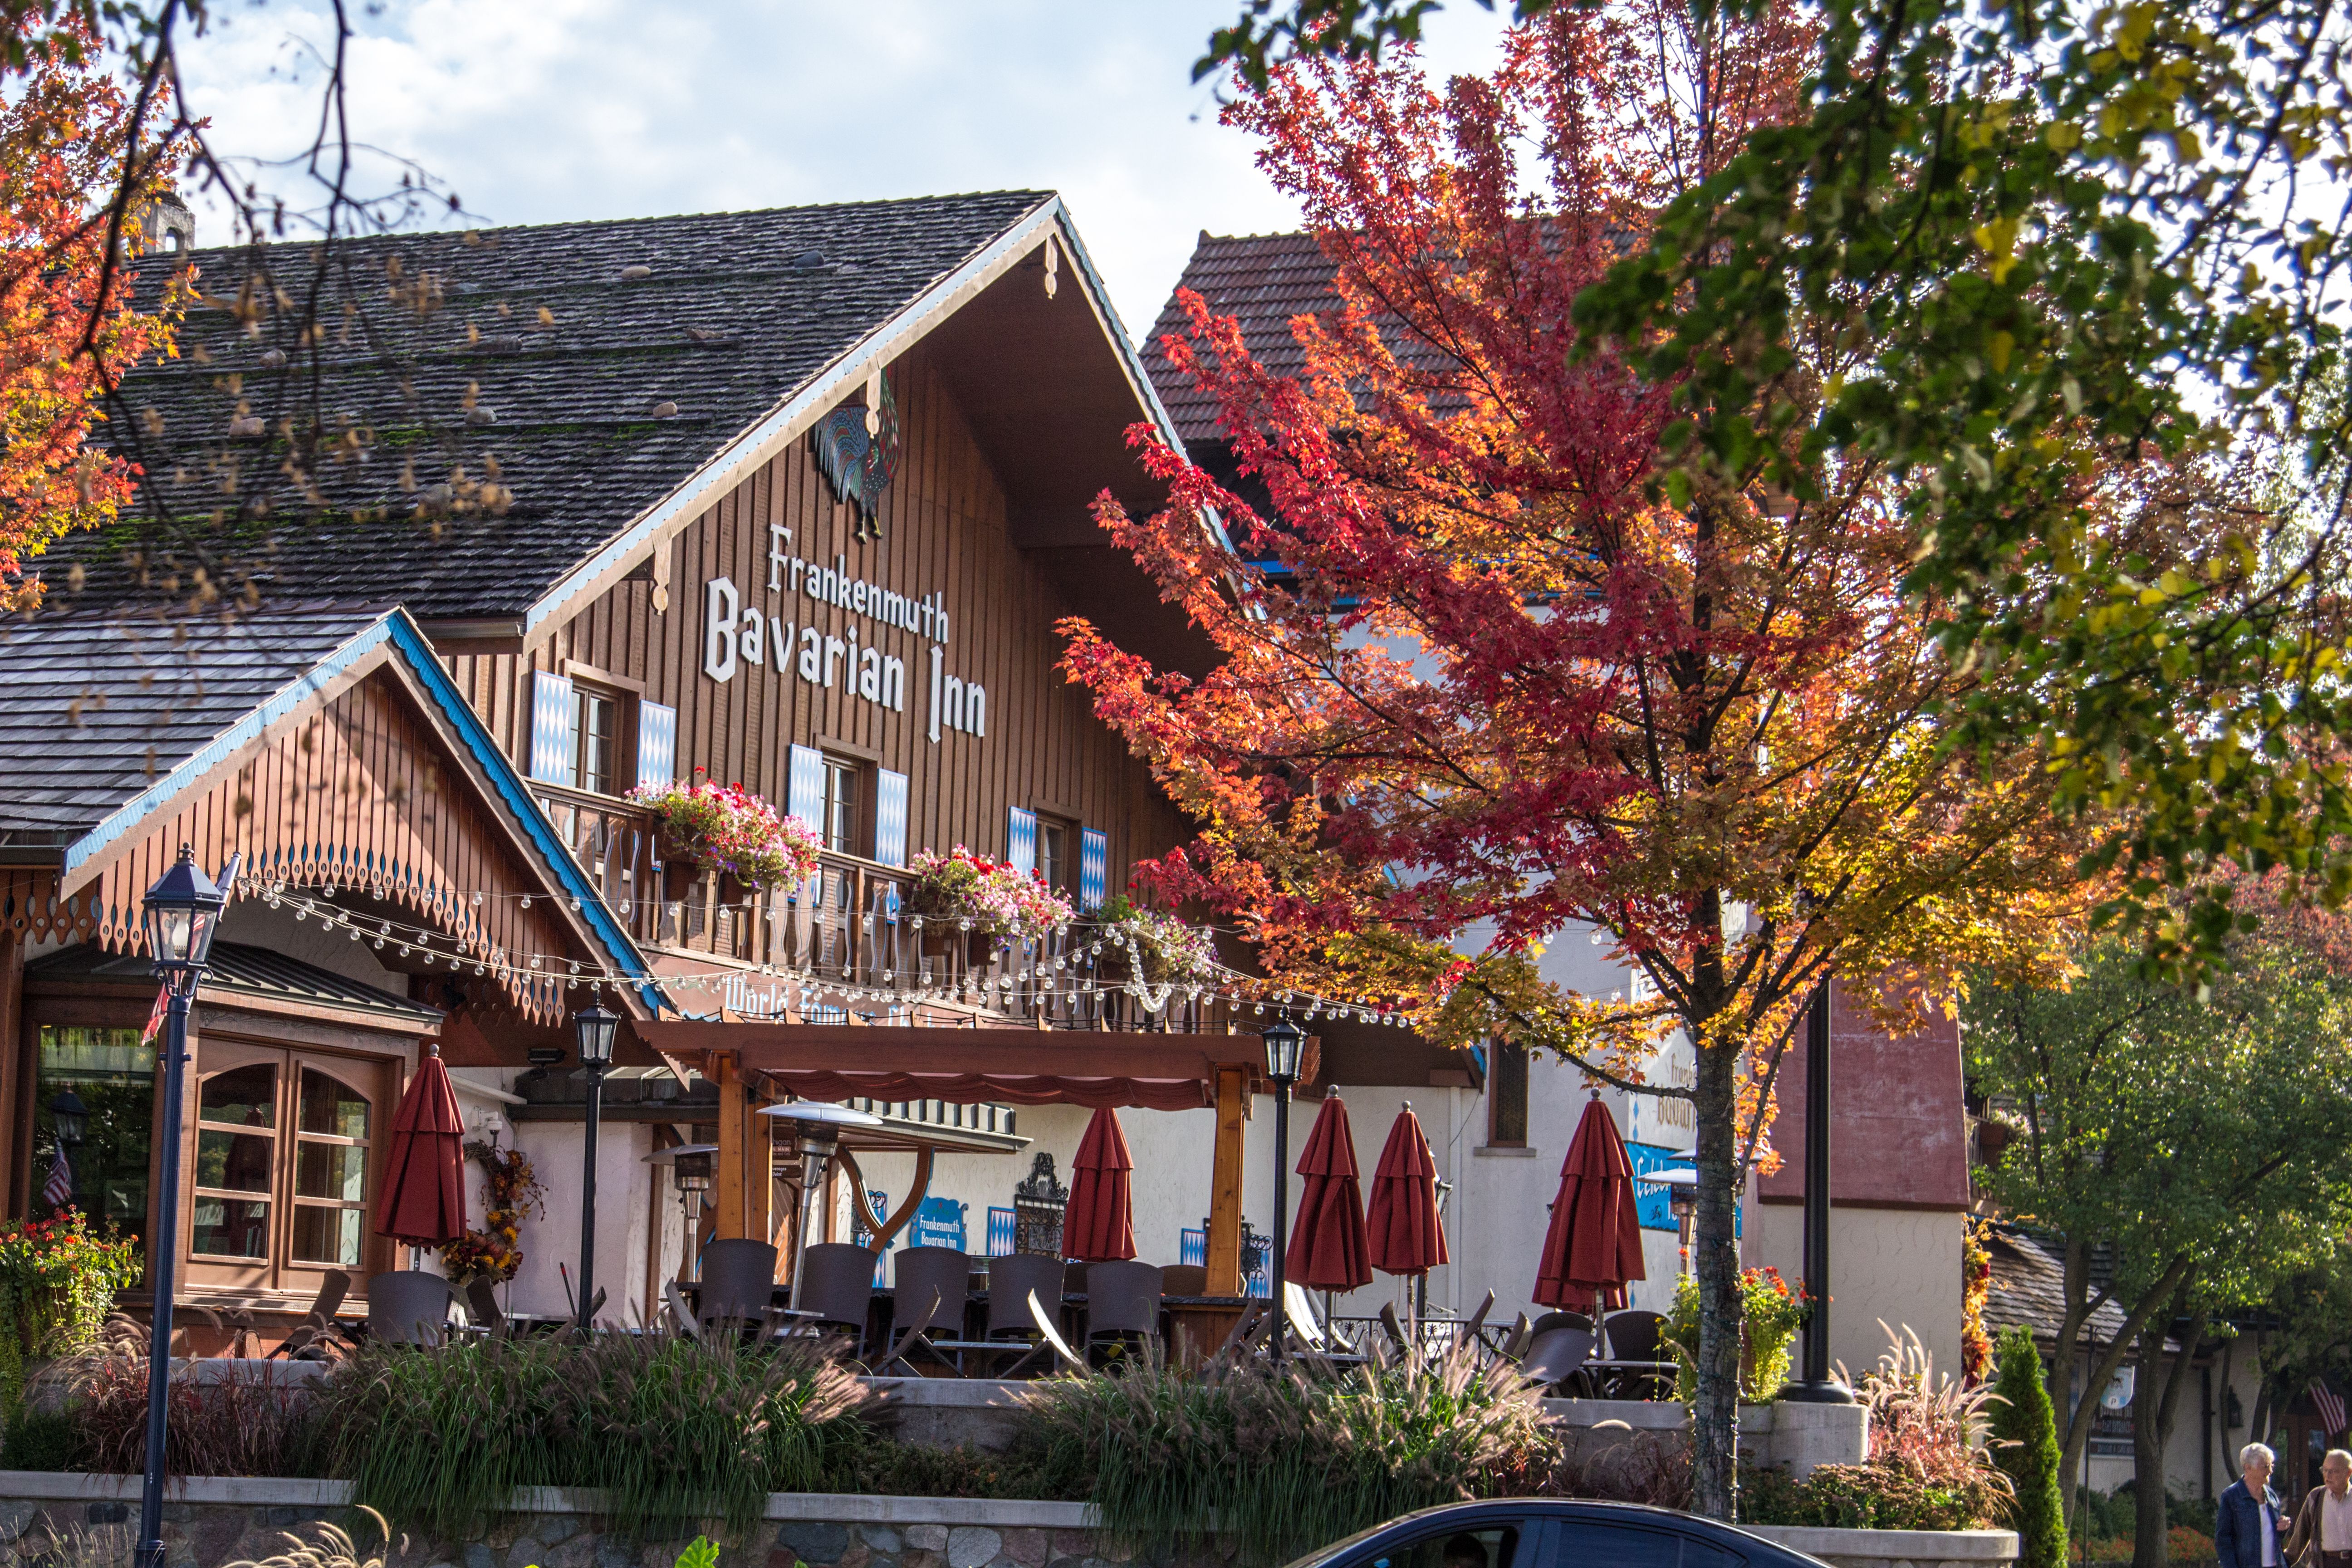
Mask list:
[[[715,576],[703,583],[703,675],[729,682],[739,665],[757,670],[774,661],[779,675],[797,675],[811,686],[840,689],[891,712],[906,712],[906,661],[875,646],[873,628],[882,625],[931,644],[927,649],[931,741],[936,743],[941,731],[988,733],[988,689],[948,675],[948,607],[941,595],[927,592],[915,599],[854,578],[847,555],[835,555],[826,564],[802,559],[790,548],[793,529],[781,522],[769,524],[769,609],[746,604],[734,578]],[[783,597],[783,614],[774,609],[776,595]],[[816,604],[847,611],[849,625],[833,635],[804,621],[802,616],[814,614]],[[866,623],[863,637],[861,623]]]

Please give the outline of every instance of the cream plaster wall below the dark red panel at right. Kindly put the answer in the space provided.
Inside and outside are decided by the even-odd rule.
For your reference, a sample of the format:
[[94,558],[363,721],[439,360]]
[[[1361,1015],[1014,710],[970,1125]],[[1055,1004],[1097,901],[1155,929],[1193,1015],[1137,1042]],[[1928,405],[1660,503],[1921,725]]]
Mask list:
[[[1804,1279],[1804,1206],[1745,1204],[1745,1267]],[[1966,1215],[1922,1208],[1830,1211],[1830,1361],[1860,1378],[1891,1328],[1910,1328],[1959,1378],[1959,1244]],[[1882,1328],[1884,1324],[1884,1328]]]

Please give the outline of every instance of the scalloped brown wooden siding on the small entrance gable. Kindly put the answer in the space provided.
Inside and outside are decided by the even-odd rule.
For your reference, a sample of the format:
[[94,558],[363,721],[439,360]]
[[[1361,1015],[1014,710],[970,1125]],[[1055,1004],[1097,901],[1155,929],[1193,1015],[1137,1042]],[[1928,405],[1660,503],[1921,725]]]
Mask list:
[[[473,799],[468,780],[449,776],[445,757],[397,679],[379,670],[221,769],[209,790],[153,823],[64,900],[71,931],[54,924],[118,952],[143,947],[139,898],[179,846],[193,844],[198,863],[212,870],[242,851],[249,891],[278,882],[332,884],[334,903],[437,926],[470,954],[588,959],[548,896],[546,872],[510,849],[506,830]],[[485,898],[473,903],[473,893]],[[534,898],[529,910],[522,896]],[[576,1001],[553,978],[506,980],[501,992],[536,1023],[560,1020]]]

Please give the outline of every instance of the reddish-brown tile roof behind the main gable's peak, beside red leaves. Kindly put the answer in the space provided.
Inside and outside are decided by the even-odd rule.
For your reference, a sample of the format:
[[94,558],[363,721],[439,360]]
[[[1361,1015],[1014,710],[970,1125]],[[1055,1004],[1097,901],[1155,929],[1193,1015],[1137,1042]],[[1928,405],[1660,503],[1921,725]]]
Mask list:
[[[1338,310],[1338,289],[1331,287],[1336,268],[1324,256],[1315,235],[1211,235],[1202,230],[1185,261],[1178,289],[1200,294],[1214,315],[1230,315],[1242,324],[1242,341],[1265,369],[1277,376],[1298,376],[1305,369],[1305,353],[1291,336],[1294,315],[1319,315]],[[1216,440],[1216,400],[1192,386],[1190,376],[1176,374],[1160,346],[1167,336],[1185,336],[1190,322],[1169,292],[1160,320],[1143,339],[1143,364],[1160,388],[1160,402],[1176,421],[1176,433],[1188,442]]]

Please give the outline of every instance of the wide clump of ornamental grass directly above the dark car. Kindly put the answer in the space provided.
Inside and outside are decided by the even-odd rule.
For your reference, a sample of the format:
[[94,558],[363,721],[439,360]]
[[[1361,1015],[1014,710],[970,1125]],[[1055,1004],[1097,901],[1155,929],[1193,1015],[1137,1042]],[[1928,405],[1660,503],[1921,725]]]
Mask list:
[[1461,1349],[1350,1373],[1317,1361],[1174,1373],[1138,1356],[1108,1375],[1042,1380],[1025,1401],[1049,1462],[1091,1474],[1115,1542],[1176,1547],[1214,1514],[1251,1563],[1491,1495],[1550,1450],[1538,1389]]

